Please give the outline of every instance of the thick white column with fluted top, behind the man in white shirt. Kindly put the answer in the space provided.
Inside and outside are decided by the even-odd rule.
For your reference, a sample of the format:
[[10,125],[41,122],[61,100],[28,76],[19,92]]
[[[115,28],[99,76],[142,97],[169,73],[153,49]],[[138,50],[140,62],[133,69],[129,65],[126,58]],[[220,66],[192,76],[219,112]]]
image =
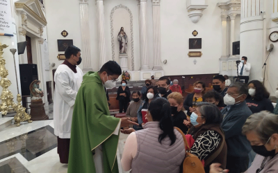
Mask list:
[[240,57],[246,56],[247,62],[251,64],[250,80],[263,79],[263,57],[265,47],[263,46],[263,15],[259,8],[260,1],[241,1],[240,20]]

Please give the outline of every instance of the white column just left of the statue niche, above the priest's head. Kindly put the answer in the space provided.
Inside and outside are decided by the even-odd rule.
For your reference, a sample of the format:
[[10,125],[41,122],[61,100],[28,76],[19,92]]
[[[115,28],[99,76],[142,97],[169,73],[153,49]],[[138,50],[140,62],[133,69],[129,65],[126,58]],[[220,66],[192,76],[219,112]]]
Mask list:
[[97,28],[99,35],[99,69],[108,60],[106,60],[106,44],[105,44],[105,33],[104,33],[104,1],[97,0]]

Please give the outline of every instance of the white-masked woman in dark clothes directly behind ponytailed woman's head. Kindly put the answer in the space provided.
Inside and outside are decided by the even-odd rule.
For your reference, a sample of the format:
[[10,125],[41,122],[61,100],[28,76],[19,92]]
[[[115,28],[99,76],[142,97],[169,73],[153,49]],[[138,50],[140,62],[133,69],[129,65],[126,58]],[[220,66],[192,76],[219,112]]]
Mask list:
[[147,88],[147,98],[142,101],[141,106],[137,111],[138,124],[140,127],[142,127],[142,125],[145,125],[145,123],[142,120],[142,109],[148,109],[149,103],[152,102],[156,93],[158,93],[156,86],[149,86]]

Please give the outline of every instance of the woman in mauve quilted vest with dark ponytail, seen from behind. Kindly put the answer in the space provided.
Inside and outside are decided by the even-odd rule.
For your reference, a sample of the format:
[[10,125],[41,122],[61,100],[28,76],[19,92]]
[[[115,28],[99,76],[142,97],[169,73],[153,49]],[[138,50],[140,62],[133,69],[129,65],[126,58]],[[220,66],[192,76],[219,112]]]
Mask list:
[[144,129],[126,138],[122,154],[124,171],[179,173],[186,154],[183,136],[171,123],[171,107],[165,98],[149,104]]

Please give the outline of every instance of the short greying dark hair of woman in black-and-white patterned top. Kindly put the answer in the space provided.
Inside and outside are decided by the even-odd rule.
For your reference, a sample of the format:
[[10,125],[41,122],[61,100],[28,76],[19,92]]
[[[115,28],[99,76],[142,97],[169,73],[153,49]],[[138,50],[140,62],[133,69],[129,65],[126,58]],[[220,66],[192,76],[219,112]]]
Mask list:
[[222,123],[222,113],[215,105],[208,102],[199,102],[197,103],[197,107],[199,108],[201,115],[204,116],[206,125],[220,125]]

